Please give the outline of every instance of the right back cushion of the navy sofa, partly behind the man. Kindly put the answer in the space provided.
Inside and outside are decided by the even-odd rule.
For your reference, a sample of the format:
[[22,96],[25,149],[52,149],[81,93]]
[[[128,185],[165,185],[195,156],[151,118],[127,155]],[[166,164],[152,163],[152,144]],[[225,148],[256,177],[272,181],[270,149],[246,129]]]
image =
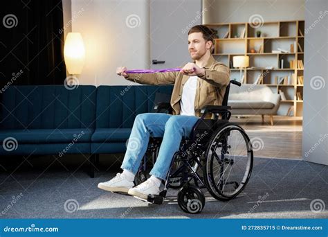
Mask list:
[[153,112],[156,93],[172,94],[172,85],[100,86],[96,128],[132,128],[137,114]]

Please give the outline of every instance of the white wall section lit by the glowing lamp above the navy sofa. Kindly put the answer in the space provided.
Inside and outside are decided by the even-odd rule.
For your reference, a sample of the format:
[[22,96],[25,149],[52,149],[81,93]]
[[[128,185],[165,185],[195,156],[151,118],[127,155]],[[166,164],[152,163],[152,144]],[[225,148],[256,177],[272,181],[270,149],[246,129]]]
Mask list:
[[80,84],[129,85],[116,67],[149,68],[148,0],[71,0],[71,10],[72,31],[82,34],[86,48]]

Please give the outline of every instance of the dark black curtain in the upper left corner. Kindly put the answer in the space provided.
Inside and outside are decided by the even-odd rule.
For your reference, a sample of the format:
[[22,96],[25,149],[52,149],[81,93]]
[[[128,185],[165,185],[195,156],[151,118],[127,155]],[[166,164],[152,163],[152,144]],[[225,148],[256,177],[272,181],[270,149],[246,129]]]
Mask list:
[[62,0],[0,1],[4,85],[60,85],[66,78]]

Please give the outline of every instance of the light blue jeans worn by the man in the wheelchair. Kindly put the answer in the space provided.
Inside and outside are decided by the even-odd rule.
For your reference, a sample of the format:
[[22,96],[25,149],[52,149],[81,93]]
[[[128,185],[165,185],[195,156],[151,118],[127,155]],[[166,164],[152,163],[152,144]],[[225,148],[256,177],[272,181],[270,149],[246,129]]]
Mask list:
[[147,150],[149,137],[163,137],[161,148],[150,175],[166,179],[175,152],[183,137],[188,137],[197,116],[147,113],[138,114],[121,168],[136,174]]

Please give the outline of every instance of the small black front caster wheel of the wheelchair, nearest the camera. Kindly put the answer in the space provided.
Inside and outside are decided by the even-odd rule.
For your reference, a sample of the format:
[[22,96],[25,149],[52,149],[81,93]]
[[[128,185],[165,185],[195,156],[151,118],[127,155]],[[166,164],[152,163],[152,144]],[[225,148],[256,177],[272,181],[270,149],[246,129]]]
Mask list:
[[186,186],[178,193],[178,204],[186,213],[200,213],[205,206],[205,196],[196,186]]

